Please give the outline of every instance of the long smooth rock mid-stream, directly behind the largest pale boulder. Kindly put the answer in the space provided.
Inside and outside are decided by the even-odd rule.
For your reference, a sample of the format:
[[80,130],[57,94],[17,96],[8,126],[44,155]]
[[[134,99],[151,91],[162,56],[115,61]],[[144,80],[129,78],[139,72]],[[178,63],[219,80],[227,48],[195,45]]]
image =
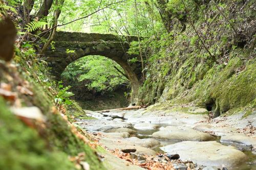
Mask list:
[[169,140],[189,140],[189,141],[208,141],[215,139],[213,136],[196,131],[187,127],[173,127],[168,126],[161,128],[160,131],[152,134],[152,137],[159,139],[169,139]]

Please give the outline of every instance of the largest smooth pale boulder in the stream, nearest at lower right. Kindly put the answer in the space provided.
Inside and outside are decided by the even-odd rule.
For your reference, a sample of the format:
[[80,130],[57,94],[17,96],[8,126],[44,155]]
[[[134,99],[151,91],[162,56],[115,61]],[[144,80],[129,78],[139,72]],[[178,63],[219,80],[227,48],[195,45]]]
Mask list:
[[160,149],[168,154],[179,154],[182,161],[191,160],[206,166],[234,166],[247,159],[243,152],[216,141],[183,141]]

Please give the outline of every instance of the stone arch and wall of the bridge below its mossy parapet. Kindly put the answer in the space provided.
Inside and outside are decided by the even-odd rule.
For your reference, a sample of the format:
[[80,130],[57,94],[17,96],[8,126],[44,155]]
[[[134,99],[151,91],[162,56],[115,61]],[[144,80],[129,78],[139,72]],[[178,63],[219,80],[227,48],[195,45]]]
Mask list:
[[[93,42],[56,41],[55,49],[47,51],[45,56],[49,66],[52,67],[52,73],[56,80],[60,80],[65,68],[79,58],[99,55],[114,60],[123,68],[127,78],[130,80],[132,87],[131,102],[136,103],[140,86],[138,77],[141,74],[141,70],[140,63],[129,63],[129,59],[135,57],[127,54],[129,47],[127,42],[106,42],[103,40]],[[136,68],[139,71],[136,72]]]

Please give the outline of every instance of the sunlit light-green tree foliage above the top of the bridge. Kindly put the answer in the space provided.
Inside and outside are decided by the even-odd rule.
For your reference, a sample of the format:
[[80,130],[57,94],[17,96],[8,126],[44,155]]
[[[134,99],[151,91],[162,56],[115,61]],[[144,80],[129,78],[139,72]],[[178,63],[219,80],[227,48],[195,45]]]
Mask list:
[[[90,0],[79,1],[79,3],[65,1],[60,20],[65,23],[86,16],[112,3],[116,4],[91,15],[90,18],[78,20],[72,25],[67,25],[60,29],[65,31],[112,33],[119,35],[137,35],[137,31],[139,31],[140,36],[151,36],[156,30],[162,29],[161,18],[154,5],[155,2],[148,0],[137,0],[137,10],[134,1]],[[81,6],[83,8],[80,8]],[[137,23],[135,13],[137,13]]]

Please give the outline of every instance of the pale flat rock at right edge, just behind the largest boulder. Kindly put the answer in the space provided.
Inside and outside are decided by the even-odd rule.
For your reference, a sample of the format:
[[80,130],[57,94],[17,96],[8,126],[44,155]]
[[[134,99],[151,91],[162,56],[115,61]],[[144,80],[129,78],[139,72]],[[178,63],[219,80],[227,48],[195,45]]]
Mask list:
[[228,136],[222,136],[221,142],[234,142],[247,146],[247,150],[252,147],[256,147],[256,138],[251,138],[244,135],[228,135]]

